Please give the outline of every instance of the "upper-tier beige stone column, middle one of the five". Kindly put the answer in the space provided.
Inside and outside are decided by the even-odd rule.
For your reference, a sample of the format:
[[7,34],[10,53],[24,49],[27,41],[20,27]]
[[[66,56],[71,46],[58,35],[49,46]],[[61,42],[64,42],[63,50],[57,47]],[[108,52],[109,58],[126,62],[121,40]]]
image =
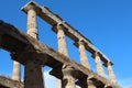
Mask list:
[[79,47],[79,56],[80,56],[81,64],[85,67],[90,69],[90,65],[89,65],[88,57],[86,54],[85,43],[81,40],[78,42],[78,47]]

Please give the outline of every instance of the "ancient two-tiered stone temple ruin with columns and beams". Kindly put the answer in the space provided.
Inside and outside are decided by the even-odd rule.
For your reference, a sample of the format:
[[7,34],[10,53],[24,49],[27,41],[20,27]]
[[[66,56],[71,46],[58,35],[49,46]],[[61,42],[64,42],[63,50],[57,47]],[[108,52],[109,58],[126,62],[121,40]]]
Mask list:
[[[59,15],[34,1],[26,3],[22,11],[28,14],[26,34],[13,25],[0,21],[0,48],[10,52],[11,58],[14,61],[12,78],[0,76],[0,88],[45,88],[42,70],[44,66],[52,68],[50,75],[57,78],[58,88],[76,88],[76,86],[80,88],[121,88],[112,69],[113,63]],[[53,26],[52,31],[57,35],[58,51],[38,41],[36,16]],[[70,37],[78,48],[80,64],[69,57],[66,36]],[[92,72],[86,52],[91,53],[97,73]],[[24,81],[21,81],[20,65],[24,66]],[[108,69],[109,79],[106,77],[102,66]]]

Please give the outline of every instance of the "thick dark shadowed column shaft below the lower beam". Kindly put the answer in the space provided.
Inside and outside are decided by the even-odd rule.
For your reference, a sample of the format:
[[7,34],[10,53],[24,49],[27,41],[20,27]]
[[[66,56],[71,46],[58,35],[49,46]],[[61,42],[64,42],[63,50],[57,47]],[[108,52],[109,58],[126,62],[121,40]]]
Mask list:
[[24,88],[44,88],[42,66],[35,61],[30,61],[25,65]]

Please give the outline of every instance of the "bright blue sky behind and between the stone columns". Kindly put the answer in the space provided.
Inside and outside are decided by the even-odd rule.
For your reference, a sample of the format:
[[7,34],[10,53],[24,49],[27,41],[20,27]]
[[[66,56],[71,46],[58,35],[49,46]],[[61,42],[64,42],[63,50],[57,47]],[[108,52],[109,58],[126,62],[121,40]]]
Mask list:
[[[113,69],[122,88],[132,86],[132,0],[35,0],[59,14],[113,63]],[[21,8],[29,0],[1,0],[0,20],[26,32],[26,14]],[[57,50],[56,34],[51,25],[38,18],[40,40]],[[69,55],[79,62],[77,48],[67,38]],[[96,70],[91,55],[89,62]],[[0,50],[0,74],[12,75],[9,53]],[[23,69],[22,69],[23,70]]]

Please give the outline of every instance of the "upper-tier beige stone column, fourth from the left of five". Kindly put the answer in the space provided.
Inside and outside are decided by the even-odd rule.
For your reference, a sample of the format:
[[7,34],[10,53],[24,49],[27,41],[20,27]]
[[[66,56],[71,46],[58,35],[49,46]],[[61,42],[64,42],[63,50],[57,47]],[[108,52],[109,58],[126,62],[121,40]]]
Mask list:
[[100,76],[106,77],[99,54],[98,54],[98,53],[95,53],[95,54],[94,54],[94,57],[95,57],[96,65],[97,65],[97,73],[98,73]]

